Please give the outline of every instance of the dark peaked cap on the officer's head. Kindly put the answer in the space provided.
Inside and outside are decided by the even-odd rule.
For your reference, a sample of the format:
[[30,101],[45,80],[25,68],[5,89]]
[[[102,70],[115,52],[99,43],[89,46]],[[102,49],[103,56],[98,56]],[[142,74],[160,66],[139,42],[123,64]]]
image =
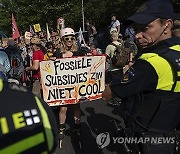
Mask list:
[[127,20],[138,24],[148,24],[157,18],[174,19],[174,10],[170,0],[149,0]]

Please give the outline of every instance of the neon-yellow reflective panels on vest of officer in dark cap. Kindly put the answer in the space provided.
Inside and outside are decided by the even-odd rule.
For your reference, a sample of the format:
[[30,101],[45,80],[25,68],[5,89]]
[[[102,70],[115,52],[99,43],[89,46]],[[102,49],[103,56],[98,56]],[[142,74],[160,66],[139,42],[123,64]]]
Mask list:
[[[180,55],[180,45],[171,46],[169,48],[169,54],[175,54],[174,57],[176,57],[176,54],[177,54],[177,57],[178,57],[178,55]],[[174,73],[175,74],[177,73],[177,78],[180,77],[180,59],[174,58],[174,59],[168,60],[167,58],[165,58],[165,56],[163,57],[162,56],[160,56],[157,53],[152,52],[152,53],[142,54],[140,59],[146,60],[155,69],[158,75],[158,84],[157,84],[156,89],[164,90],[164,91],[171,91],[172,86],[176,80]],[[176,66],[174,66],[171,63],[171,61],[174,61],[175,63],[174,65]],[[177,67],[177,69],[175,67]],[[175,84],[176,85],[174,87],[173,92],[180,92],[180,81],[177,81]]]

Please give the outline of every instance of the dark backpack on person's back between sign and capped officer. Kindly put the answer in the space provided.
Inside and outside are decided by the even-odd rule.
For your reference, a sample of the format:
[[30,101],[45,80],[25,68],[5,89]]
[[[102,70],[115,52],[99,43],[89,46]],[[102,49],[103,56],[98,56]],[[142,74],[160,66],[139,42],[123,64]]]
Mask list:
[[116,47],[114,55],[111,58],[112,64],[116,67],[124,67],[127,65],[131,52],[130,48],[126,47],[124,43],[122,43],[122,45],[111,43],[111,45]]

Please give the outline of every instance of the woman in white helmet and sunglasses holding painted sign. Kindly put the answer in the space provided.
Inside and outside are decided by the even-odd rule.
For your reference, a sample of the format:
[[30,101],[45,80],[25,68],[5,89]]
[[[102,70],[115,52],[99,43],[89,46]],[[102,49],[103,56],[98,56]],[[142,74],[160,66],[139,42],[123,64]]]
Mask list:
[[[55,51],[53,57],[56,58],[67,58],[73,56],[83,56],[84,54],[81,51],[78,51],[78,46],[76,45],[75,32],[72,28],[64,28],[60,31],[61,33],[61,47],[60,50]],[[81,110],[80,104],[74,104],[74,132],[79,136],[80,135],[80,118],[81,118]],[[67,105],[63,105],[60,107],[59,112],[59,134],[60,134],[60,148],[62,147],[62,139],[65,133],[65,122],[66,122],[66,112]]]

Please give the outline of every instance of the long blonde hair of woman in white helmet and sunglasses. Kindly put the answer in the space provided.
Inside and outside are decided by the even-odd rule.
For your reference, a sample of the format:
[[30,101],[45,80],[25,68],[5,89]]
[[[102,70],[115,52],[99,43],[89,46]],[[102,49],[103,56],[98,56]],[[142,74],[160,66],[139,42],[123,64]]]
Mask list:
[[73,40],[73,44],[70,49],[66,46],[64,40],[63,39],[61,40],[60,51],[62,53],[65,53],[66,51],[76,52],[77,50],[78,50],[78,45],[76,44],[76,40]]

